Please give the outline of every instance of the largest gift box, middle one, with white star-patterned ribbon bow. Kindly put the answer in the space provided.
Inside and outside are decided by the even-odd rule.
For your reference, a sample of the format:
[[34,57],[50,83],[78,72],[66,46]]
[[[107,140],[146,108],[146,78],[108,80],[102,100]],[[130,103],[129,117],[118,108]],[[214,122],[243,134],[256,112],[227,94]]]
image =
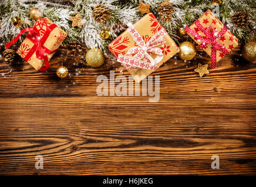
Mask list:
[[109,50],[136,82],[142,81],[179,51],[153,13],[148,13],[114,39]]

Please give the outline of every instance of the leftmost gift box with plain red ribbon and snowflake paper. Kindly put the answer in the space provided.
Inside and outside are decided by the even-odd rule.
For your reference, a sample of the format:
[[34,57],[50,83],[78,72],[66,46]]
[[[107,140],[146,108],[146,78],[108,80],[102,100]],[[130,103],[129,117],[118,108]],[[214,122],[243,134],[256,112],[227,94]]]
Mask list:
[[14,40],[6,44],[6,49],[25,32],[29,33],[16,53],[36,70],[47,70],[50,58],[67,36],[66,32],[50,19],[41,18],[36,20],[33,27],[23,29]]

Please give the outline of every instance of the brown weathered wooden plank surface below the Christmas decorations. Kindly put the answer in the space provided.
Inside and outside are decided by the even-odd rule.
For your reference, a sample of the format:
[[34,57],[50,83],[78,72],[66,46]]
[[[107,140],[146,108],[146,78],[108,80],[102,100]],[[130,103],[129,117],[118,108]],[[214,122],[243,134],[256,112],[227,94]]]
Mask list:
[[[109,70],[82,65],[64,47],[47,72],[1,59],[0,174],[256,174],[256,64],[240,47],[203,78],[194,69],[210,63],[205,53],[191,63],[172,58],[153,73],[156,103],[97,96],[96,78]],[[61,64],[70,77],[56,77]],[[220,169],[211,169],[212,155]]]

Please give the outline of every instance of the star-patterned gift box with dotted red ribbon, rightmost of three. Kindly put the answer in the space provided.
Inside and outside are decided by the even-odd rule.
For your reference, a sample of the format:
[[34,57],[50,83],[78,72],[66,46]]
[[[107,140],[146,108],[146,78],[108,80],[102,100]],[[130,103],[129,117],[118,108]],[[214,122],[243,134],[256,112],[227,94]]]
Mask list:
[[227,27],[210,11],[206,11],[190,27],[186,26],[190,37],[211,56],[211,68],[238,46],[238,40]]

